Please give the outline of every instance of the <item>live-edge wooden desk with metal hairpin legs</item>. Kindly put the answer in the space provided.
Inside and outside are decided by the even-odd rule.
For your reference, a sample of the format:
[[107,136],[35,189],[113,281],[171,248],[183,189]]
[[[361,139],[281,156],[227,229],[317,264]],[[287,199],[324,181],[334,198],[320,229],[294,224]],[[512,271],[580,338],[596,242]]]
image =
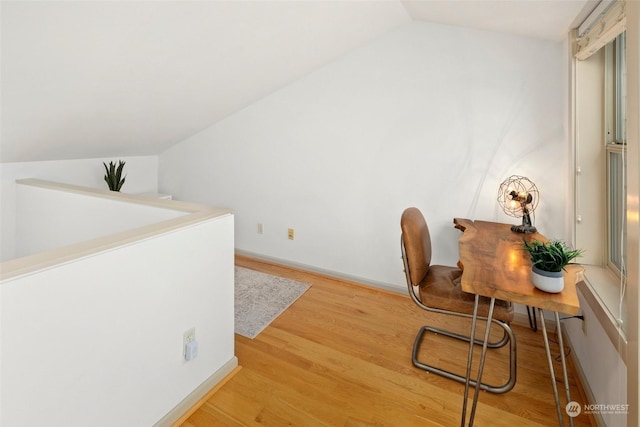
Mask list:
[[[478,368],[477,384],[480,384],[484,359],[489,337],[490,320],[493,315],[495,299],[502,299],[514,303],[520,303],[538,309],[540,323],[542,324],[543,338],[547,351],[551,382],[556,399],[556,410],[560,425],[564,425],[564,418],[560,409],[560,399],[555,382],[551,351],[549,349],[549,339],[544,322],[543,310],[551,310],[555,313],[558,339],[560,348],[563,349],[562,330],[560,328],[559,312],[575,315],[580,309],[576,283],[582,280],[583,268],[578,265],[567,266],[565,272],[564,290],[557,294],[551,294],[538,290],[531,283],[531,261],[529,254],[523,250],[522,239],[546,241],[547,239],[539,234],[522,234],[511,231],[509,224],[500,224],[486,221],[471,221],[468,219],[455,218],[453,220],[456,228],[463,231],[459,239],[460,263],[463,267],[461,285],[465,292],[476,295],[474,316],[471,323],[471,335],[475,336],[475,326],[477,321],[477,307],[479,296],[491,298],[489,309],[488,327],[485,330],[484,344],[480,356]],[[565,393],[567,402],[571,401],[569,392],[569,382],[567,379],[567,368],[564,358],[564,351],[560,352],[565,383]],[[462,410],[462,425],[466,421],[466,407],[471,376],[471,362],[473,357],[473,344],[469,345],[469,356],[467,364],[467,382],[465,384],[465,394]],[[473,425],[476,405],[478,401],[479,387],[473,397],[473,405],[469,425]],[[573,426],[573,418],[569,418]]]

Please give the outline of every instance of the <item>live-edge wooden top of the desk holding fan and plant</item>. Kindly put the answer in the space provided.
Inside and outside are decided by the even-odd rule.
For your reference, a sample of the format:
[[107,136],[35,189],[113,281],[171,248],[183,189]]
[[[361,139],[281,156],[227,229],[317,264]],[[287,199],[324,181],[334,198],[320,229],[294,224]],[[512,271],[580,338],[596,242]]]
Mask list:
[[567,314],[580,308],[576,283],[582,280],[583,267],[568,265],[564,272],[564,290],[543,292],[531,283],[531,260],[523,250],[522,239],[546,241],[540,233],[511,231],[511,225],[455,218],[463,231],[459,239],[463,266],[462,289],[465,292]]

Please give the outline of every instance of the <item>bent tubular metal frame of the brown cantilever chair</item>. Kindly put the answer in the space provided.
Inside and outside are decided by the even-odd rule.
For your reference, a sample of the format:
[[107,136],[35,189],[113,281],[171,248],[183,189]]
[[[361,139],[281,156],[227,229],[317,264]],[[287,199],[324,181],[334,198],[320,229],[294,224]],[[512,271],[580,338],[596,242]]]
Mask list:
[[[422,301],[420,301],[420,299],[418,299],[418,297],[416,296],[415,292],[413,291],[413,287],[414,284],[411,282],[411,274],[410,274],[410,270],[409,270],[409,263],[407,261],[407,253],[406,253],[406,249],[405,249],[405,245],[404,245],[404,238],[403,236],[400,236],[400,247],[402,250],[402,261],[404,263],[404,273],[406,275],[407,278],[407,287],[409,290],[409,295],[411,296],[411,299],[413,300],[413,302],[415,302],[420,308],[422,308],[423,310],[426,311],[430,311],[433,313],[440,313],[440,314],[449,314],[449,315],[453,315],[453,316],[458,316],[458,317],[465,317],[468,319],[473,319],[473,315],[471,314],[467,314],[467,313],[459,313],[457,311],[450,311],[450,310],[443,310],[440,308],[435,308],[435,307],[429,307],[425,304],[422,303]],[[417,286],[417,285],[416,285]],[[483,316],[478,316],[477,317],[478,320],[484,320],[486,321],[487,318],[483,317]],[[504,347],[507,342],[509,343],[509,379],[507,380],[507,382],[505,382],[502,385],[490,385],[487,383],[480,383],[480,389],[481,390],[485,390],[488,391],[490,393],[496,393],[496,394],[501,394],[501,393],[506,393],[509,390],[511,390],[515,385],[516,385],[516,337],[513,334],[513,330],[511,329],[511,327],[509,326],[509,324],[498,320],[498,319],[491,319],[491,321],[493,323],[495,323],[496,325],[498,325],[500,328],[502,328],[503,330],[503,335],[502,338],[496,342],[489,342],[487,344],[488,348],[492,348],[492,349],[497,349],[497,348],[501,348]],[[442,369],[442,368],[438,368],[432,365],[428,365],[426,363],[420,362],[418,360],[418,351],[420,350],[420,345],[422,343],[422,340],[424,339],[424,335],[427,332],[432,332],[435,334],[441,334],[450,338],[455,338],[461,341],[465,341],[465,342],[469,342],[471,340],[471,338],[467,335],[461,335],[461,334],[457,334],[451,331],[447,331],[444,329],[439,329],[439,328],[435,328],[432,326],[423,326],[422,328],[420,328],[420,330],[418,331],[418,335],[416,335],[416,339],[413,343],[413,352],[412,352],[412,362],[413,365],[417,368],[420,368],[422,370],[425,370],[427,372],[431,372],[440,376],[443,376],[445,378],[449,378],[451,380],[457,381],[459,383],[465,383],[466,382],[466,377],[463,375],[459,375],[456,373],[453,373],[451,371],[447,371],[446,369]],[[475,338],[473,340],[473,343],[475,345],[480,345],[482,346],[483,341],[479,340],[477,338]],[[469,366],[467,366],[467,369],[469,369]],[[469,380],[469,384],[472,387],[476,386],[476,381],[474,381],[473,379]]]

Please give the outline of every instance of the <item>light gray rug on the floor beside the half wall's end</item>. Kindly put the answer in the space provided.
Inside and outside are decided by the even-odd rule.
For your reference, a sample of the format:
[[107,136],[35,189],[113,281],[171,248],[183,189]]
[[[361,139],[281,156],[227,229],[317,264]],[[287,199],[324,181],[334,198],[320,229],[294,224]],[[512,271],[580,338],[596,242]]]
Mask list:
[[311,285],[236,267],[235,332],[255,338]]

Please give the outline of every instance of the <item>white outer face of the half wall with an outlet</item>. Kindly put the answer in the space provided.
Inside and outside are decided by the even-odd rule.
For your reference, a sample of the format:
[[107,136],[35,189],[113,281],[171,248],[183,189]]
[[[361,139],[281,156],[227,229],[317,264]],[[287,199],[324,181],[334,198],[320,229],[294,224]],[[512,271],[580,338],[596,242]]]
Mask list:
[[153,425],[235,359],[233,216],[5,280],[0,304],[0,425]]

